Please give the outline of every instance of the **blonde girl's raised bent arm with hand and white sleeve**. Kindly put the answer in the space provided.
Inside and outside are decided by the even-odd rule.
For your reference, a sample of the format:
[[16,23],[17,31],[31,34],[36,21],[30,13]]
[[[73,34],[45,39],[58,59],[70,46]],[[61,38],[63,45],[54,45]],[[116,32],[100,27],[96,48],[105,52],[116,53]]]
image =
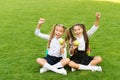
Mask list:
[[40,18],[40,19],[39,19],[39,22],[38,22],[37,27],[36,27],[36,30],[35,30],[35,35],[38,36],[38,37],[40,37],[40,38],[49,40],[49,37],[50,37],[49,35],[43,34],[43,33],[40,32],[41,25],[42,25],[44,22],[45,22],[45,19],[43,19],[43,18]]

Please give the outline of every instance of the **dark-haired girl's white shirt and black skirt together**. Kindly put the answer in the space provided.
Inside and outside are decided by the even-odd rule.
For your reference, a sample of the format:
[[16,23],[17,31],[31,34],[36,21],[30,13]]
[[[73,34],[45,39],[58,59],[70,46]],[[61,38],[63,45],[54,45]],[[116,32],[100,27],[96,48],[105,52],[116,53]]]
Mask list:
[[[93,27],[87,31],[88,37],[90,37],[97,29],[98,26],[93,25]],[[94,57],[88,56],[88,54],[85,52],[84,36],[82,35],[81,37],[76,37],[76,39],[80,45],[78,46],[74,55],[71,55],[70,60],[78,64],[88,65]]]

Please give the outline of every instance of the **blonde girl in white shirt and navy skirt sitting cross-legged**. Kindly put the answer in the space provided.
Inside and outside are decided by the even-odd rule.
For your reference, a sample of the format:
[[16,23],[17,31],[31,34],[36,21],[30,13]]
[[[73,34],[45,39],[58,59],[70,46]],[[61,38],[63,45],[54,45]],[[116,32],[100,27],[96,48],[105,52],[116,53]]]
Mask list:
[[42,66],[40,73],[51,70],[59,74],[67,75],[67,71],[64,69],[64,66],[67,65],[70,60],[69,58],[66,58],[66,40],[64,40],[62,44],[59,43],[59,40],[66,32],[66,28],[62,24],[55,24],[50,35],[43,34],[40,32],[40,28],[44,22],[45,19],[40,18],[35,30],[35,35],[48,40],[47,56],[44,58],[37,58],[36,60],[37,63]]

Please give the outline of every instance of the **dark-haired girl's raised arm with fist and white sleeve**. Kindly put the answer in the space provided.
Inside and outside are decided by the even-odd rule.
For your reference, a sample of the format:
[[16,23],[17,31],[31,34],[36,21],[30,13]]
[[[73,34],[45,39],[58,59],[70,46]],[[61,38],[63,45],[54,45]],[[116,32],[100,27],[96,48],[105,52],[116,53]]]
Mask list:
[[94,25],[92,26],[92,28],[90,30],[87,31],[88,37],[90,37],[91,35],[94,34],[94,32],[97,31],[100,17],[101,17],[101,13],[97,12],[96,13],[96,20],[95,20]]

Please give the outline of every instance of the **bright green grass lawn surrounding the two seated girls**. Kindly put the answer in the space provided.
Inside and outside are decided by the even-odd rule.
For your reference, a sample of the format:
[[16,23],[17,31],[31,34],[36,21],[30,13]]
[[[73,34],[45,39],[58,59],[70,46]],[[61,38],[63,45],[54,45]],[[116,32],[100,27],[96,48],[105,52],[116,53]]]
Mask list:
[[[90,38],[92,55],[100,55],[103,72],[76,71],[63,76],[39,73],[36,58],[45,56],[47,41],[34,35],[40,17],[42,32],[52,25],[83,23],[89,29],[102,13],[99,30]],[[120,80],[120,3],[89,0],[0,0],[0,80]]]

